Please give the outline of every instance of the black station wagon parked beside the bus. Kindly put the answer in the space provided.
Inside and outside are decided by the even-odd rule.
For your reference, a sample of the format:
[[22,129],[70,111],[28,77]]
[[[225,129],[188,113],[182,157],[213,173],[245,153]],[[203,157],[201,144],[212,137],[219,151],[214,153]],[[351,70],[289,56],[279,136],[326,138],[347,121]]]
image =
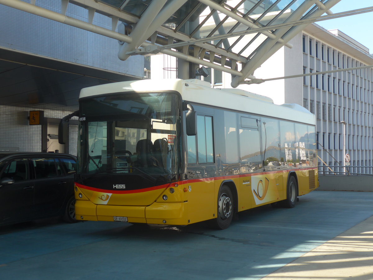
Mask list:
[[61,216],[74,223],[75,156],[0,152],[0,225]]

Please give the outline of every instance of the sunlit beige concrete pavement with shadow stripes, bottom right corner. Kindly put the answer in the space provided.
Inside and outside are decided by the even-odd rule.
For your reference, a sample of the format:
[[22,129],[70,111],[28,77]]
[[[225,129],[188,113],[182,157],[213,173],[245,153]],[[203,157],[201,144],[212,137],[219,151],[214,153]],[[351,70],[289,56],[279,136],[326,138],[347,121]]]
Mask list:
[[262,279],[372,280],[373,217]]

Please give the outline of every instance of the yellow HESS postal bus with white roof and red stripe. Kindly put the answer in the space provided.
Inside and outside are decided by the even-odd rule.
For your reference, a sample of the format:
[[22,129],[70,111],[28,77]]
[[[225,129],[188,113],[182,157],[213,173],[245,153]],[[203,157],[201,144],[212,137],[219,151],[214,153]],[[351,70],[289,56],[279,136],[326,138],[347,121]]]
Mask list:
[[315,116],[200,80],[83,88],[77,220],[227,228],[233,214],[318,187]]

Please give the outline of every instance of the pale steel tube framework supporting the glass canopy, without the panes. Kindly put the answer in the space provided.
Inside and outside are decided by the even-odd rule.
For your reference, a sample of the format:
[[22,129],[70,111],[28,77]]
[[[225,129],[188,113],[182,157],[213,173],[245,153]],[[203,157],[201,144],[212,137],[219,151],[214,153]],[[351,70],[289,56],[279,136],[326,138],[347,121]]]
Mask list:
[[[245,79],[254,79],[252,75],[254,70],[258,68],[264,61],[266,61],[273,53],[275,53],[280,47],[288,46],[289,40],[294,37],[295,34],[301,32],[301,30],[311,22],[318,20],[325,20],[335,18],[341,15],[334,14],[330,16],[330,7],[334,6],[340,0],[328,0],[323,3],[320,0],[304,0],[300,7],[294,10],[292,14],[283,24],[270,25],[267,27],[260,27],[254,24],[253,21],[247,19],[242,13],[235,12],[235,8],[230,10],[229,6],[223,6],[212,0],[198,0],[201,4],[209,6],[210,10],[219,11],[226,16],[234,19],[240,24],[244,24],[250,29],[239,32],[231,32],[228,34],[222,34],[224,32],[222,23],[218,26],[217,13],[214,15],[214,21],[217,25],[217,31],[219,35],[210,36],[202,39],[191,39],[186,34],[177,32],[177,30],[162,26],[170,16],[172,16],[180,7],[182,7],[187,0],[153,0],[150,1],[150,5],[144,10],[141,17],[131,15],[118,8],[110,6],[109,4],[102,3],[97,0],[60,0],[61,1],[61,12],[53,12],[51,10],[35,6],[35,0],[31,0],[30,3],[26,3],[21,0],[0,0],[0,4],[4,4],[9,7],[13,7],[24,12],[32,13],[44,18],[51,19],[63,24],[67,24],[76,28],[84,29],[89,32],[94,32],[109,38],[122,41],[118,57],[120,59],[126,59],[131,54],[144,54],[148,53],[164,53],[170,56],[174,56],[188,62],[197,63],[199,65],[211,67],[220,71],[227,72],[235,75],[236,77],[232,81],[232,86],[236,87],[240,83],[245,83]],[[68,9],[68,4],[75,4],[88,9],[88,22],[81,21],[75,18],[66,16],[65,13]],[[123,5],[128,4],[129,1],[123,2]],[[241,2],[240,2],[241,3]],[[258,2],[260,3],[260,1]],[[311,12],[307,16],[304,16],[310,8]],[[372,7],[371,7],[372,8]],[[363,10],[363,9],[361,9]],[[358,10],[356,10],[358,11]],[[350,11],[353,12],[353,11]],[[364,11],[365,12],[365,11]],[[112,19],[111,30],[102,28],[93,24],[93,18],[95,13],[100,13]],[[323,13],[327,13],[329,16],[322,17]],[[355,12],[355,14],[358,12]],[[352,15],[354,13],[349,13]],[[300,18],[302,18],[300,20]],[[129,35],[121,34],[116,32],[117,24],[119,21],[132,24],[133,29]],[[220,27],[220,28],[219,28]],[[274,32],[271,30],[276,29]],[[213,31],[216,31],[214,29]],[[209,41],[226,40],[229,37],[243,36],[246,34],[257,33],[264,34],[267,39],[251,54],[250,60],[247,57],[241,56],[240,53],[233,53],[230,49],[223,49],[217,47]],[[212,35],[213,32],[210,33]],[[151,38],[151,42],[148,42]],[[157,38],[157,40],[156,40]],[[168,42],[167,42],[168,38]],[[173,43],[174,41],[180,41],[179,43]],[[228,42],[228,40],[226,40]],[[225,43],[226,43],[225,42]],[[158,44],[160,43],[161,46]],[[194,45],[194,52],[191,47],[187,46]],[[224,45],[225,48],[229,46]],[[140,49],[139,49],[140,47]],[[178,51],[176,51],[176,49]],[[181,51],[182,49],[182,51]],[[198,51],[199,50],[199,51]],[[230,61],[226,60],[229,59]],[[232,62],[232,63],[231,63]],[[243,63],[241,71],[235,70],[237,62]],[[232,66],[231,66],[232,64]],[[226,65],[231,66],[230,68]],[[233,68],[233,69],[232,69]]]

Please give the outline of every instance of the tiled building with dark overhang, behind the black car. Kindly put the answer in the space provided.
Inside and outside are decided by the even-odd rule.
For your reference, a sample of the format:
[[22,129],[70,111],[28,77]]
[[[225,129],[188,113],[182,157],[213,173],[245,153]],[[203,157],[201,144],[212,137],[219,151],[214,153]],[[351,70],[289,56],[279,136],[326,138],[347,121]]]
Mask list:
[[[55,12],[61,3],[36,1]],[[71,3],[66,15],[88,21],[88,10]],[[0,23],[0,152],[59,150],[76,155],[76,121],[70,125],[68,150],[56,134],[59,120],[78,108],[80,89],[144,77],[144,57],[119,60],[117,40],[3,5]],[[108,29],[112,24],[99,13],[93,23]],[[44,127],[29,125],[29,111],[35,110],[44,112]]]

